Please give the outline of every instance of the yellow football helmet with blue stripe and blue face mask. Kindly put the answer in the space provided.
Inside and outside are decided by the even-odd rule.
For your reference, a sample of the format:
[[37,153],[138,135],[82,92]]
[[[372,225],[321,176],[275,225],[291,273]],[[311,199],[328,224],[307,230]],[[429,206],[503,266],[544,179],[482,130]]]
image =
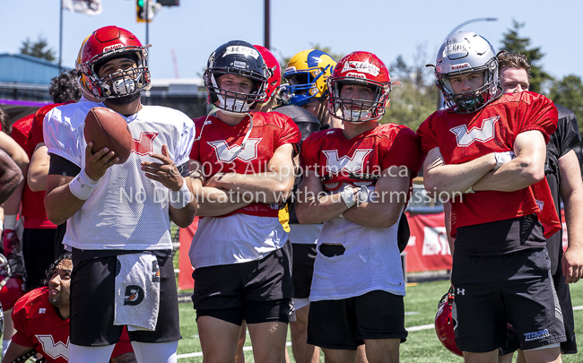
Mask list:
[[301,106],[310,100],[328,94],[326,80],[336,65],[327,53],[309,49],[292,56],[285,68],[282,85],[283,101],[289,105]]

